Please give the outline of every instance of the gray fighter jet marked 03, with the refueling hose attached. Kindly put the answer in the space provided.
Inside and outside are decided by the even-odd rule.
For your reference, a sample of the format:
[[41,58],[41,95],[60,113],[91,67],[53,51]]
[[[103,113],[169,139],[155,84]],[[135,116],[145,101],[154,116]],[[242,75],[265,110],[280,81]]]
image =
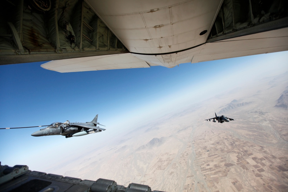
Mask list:
[[[39,131],[32,133],[31,135],[35,137],[48,136],[48,135],[63,135],[66,138],[69,138],[105,131],[106,129],[97,126],[101,125],[100,123],[97,122],[97,119],[98,114],[94,117],[92,121],[86,123],[70,123],[69,121],[66,121],[65,123],[55,122],[52,123],[51,125],[48,125],[46,128],[40,129]],[[34,126],[34,127],[43,127],[43,126]],[[1,129],[19,129],[19,128],[30,128],[30,127],[1,128]]]

